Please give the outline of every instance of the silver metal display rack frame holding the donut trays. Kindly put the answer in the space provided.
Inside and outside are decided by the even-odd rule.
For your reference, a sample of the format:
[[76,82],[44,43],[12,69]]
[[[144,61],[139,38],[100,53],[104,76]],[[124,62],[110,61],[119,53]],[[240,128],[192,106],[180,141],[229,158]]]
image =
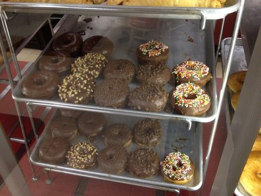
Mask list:
[[[193,19],[196,20],[196,22],[193,22],[191,24],[194,24],[193,28],[191,29],[194,35],[197,37],[193,38],[194,40],[200,40],[203,39],[203,42],[205,43],[206,48],[204,48],[204,53],[202,56],[203,60],[210,59],[210,67],[212,69],[212,72],[215,72],[215,64],[217,62],[217,56],[218,56],[218,50],[220,48],[220,43],[221,43],[221,37],[222,37],[222,32],[223,32],[223,26],[225,22],[225,17],[232,12],[237,11],[237,18],[235,22],[235,27],[233,31],[233,37],[231,41],[231,47],[228,52],[228,59],[227,59],[227,64],[225,66],[224,70],[224,75],[223,75],[223,85],[219,94],[219,99],[217,101],[217,94],[216,94],[216,86],[215,86],[215,73],[213,74],[212,82],[210,82],[207,86],[207,90],[210,90],[212,99],[214,100],[212,102],[212,109],[209,114],[206,114],[205,117],[200,117],[200,118],[193,118],[193,117],[186,117],[186,116],[180,116],[180,115],[168,115],[164,113],[142,113],[138,111],[132,111],[132,110],[115,110],[115,109],[110,109],[110,108],[101,108],[97,106],[83,106],[83,105],[75,105],[75,104],[69,104],[69,103],[62,103],[56,100],[36,100],[36,99],[27,99],[23,98],[21,96],[21,84],[23,82],[22,78],[19,78],[20,83],[16,88],[14,88],[14,84],[12,81],[12,77],[10,74],[10,69],[8,66],[8,60],[6,57],[5,51],[3,51],[3,43],[2,39],[0,38],[0,46],[3,51],[3,57],[5,61],[5,66],[8,71],[8,77],[10,80],[11,87],[13,90],[13,97],[15,99],[16,107],[17,107],[17,112],[19,115],[19,120],[21,123],[21,127],[23,130],[23,135],[24,139],[26,140],[26,135],[24,132],[24,127],[23,127],[23,122],[21,118],[21,112],[19,105],[17,104],[17,101],[24,101],[27,105],[28,113],[29,116],[32,117],[32,111],[33,107],[32,106],[50,106],[50,107],[56,107],[56,108],[67,108],[67,109],[76,109],[76,110],[82,110],[82,111],[94,111],[94,112],[103,112],[103,113],[110,113],[114,115],[128,115],[128,116],[133,116],[129,118],[136,118],[136,117],[150,117],[150,118],[159,118],[159,119],[165,119],[169,120],[170,122],[172,121],[178,121],[177,125],[180,123],[188,123],[189,127],[188,129],[191,129],[190,131],[195,134],[195,137],[199,138],[199,143],[194,143],[191,145],[194,145],[195,148],[200,147],[200,141],[202,141],[202,123],[194,123],[192,121],[197,121],[197,122],[210,122],[214,120],[214,124],[211,130],[211,137],[207,149],[207,154],[206,158],[203,161],[203,156],[202,154],[197,157],[197,163],[198,165],[198,177],[195,177],[195,179],[191,182],[194,183],[197,181],[198,183],[194,183],[193,185],[191,184],[186,184],[184,186],[179,186],[179,185],[173,185],[169,183],[159,183],[157,181],[157,185],[155,183],[149,182],[149,180],[137,180],[136,178],[134,179],[123,179],[122,177],[118,176],[112,176],[106,177],[106,175],[101,174],[99,172],[92,172],[92,171],[78,171],[78,170],[73,170],[68,167],[57,167],[57,166],[52,166],[52,165],[43,165],[39,160],[37,160],[36,156],[36,150],[33,151],[32,155],[29,151],[28,144],[26,145],[27,149],[27,154],[29,157],[31,157],[31,161],[34,164],[41,165],[45,168],[46,172],[53,171],[53,172],[62,172],[62,173],[68,173],[68,174],[73,174],[73,175],[79,175],[79,176],[86,176],[86,177],[93,177],[93,178],[99,178],[99,179],[105,179],[105,180],[112,180],[112,181],[117,181],[117,182],[123,182],[123,183],[129,183],[129,184],[134,184],[138,186],[144,186],[144,187],[150,187],[150,188],[156,188],[156,189],[162,189],[162,190],[168,190],[168,191],[174,191],[177,194],[179,194],[179,189],[186,189],[186,190],[197,190],[201,187],[202,183],[204,182],[206,172],[208,169],[208,164],[209,164],[209,159],[210,159],[210,154],[212,150],[212,146],[214,143],[214,136],[216,132],[216,127],[218,123],[218,118],[222,106],[222,100],[224,98],[225,92],[226,92],[226,83],[227,79],[229,76],[229,71],[231,67],[231,62],[232,62],[232,56],[235,50],[236,46],[236,41],[237,41],[237,34],[239,31],[239,25],[240,21],[242,18],[242,12],[243,12],[243,6],[244,6],[245,0],[228,0],[227,4],[223,8],[188,8],[188,7],[134,7],[134,6],[107,6],[105,4],[101,5],[68,5],[68,4],[41,4],[41,3],[1,3],[0,4],[0,18],[1,22],[3,25],[3,30],[4,33],[7,37],[7,42],[10,47],[11,53],[12,53],[12,58],[14,60],[14,63],[17,64],[17,59],[14,53],[14,50],[12,48],[12,42],[10,39],[10,30],[8,28],[8,25],[6,21],[8,20],[7,17],[7,12],[24,12],[24,13],[48,13],[48,14],[68,14],[68,15],[74,15],[74,16],[69,16],[66,20],[66,31],[69,29],[72,29],[73,26],[68,26],[68,24],[73,24],[70,23],[70,21],[75,21],[75,18],[78,18],[78,15],[83,14],[83,15],[91,15],[91,16],[111,16],[111,17],[142,17],[142,18],[159,18],[162,20],[170,20],[173,19],[173,21],[178,21],[178,19]],[[175,20],[174,20],[175,19]],[[213,38],[213,24],[214,20],[216,19],[222,19],[222,28],[219,36],[219,44],[218,44],[218,49],[216,54],[214,54],[214,38]],[[200,20],[200,21],[198,21]],[[200,22],[200,23],[198,23]],[[181,23],[186,23],[185,20],[182,20]],[[63,28],[63,25],[61,26]],[[203,37],[198,37],[200,35],[200,31],[202,30],[201,33],[203,33]],[[62,29],[63,31],[63,29]],[[59,32],[62,31],[57,31],[57,33],[54,35],[57,36],[59,35]],[[64,31],[63,31],[64,32]],[[180,32],[179,32],[180,33]],[[198,33],[198,34],[196,34]],[[200,41],[199,41],[200,42]],[[48,47],[48,46],[47,46]],[[197,48],[198,49],[198,48]],[[207,54],[207,52],[209,52]],[[193,53],[190,54],[193,57]],[[195,57],[197,57],[195,55]],[[182,62],[181,59],[184,59],[185,57],[180,57],[180,61]],[[35,65],[35,64],[33,64]],[[36,66],[32,66],[31,70],[36,69]],[[32,126],[34,127],[34,122],[31,121]],[[195,130],[195,124],[196,124],[196,129]],[[165,130],[166,131],[166,130]],[[45,131],[46,132],[46,131]],[[40,139],[38,140],[38,136],[35,130],[35,136],[37,141],[37,144],[40,144],[41,140],[43,137],[45,137],[45,132],[44,134],[41,135]],[[168,131],[168,133],[171,131]],[[199,146],[197,146],[199,145]],[[202,148],[202,147],[200,147]],[[202,149],[200,149],[202,150]],[[200,152],[199,150],[199,152]],[[204,162],[204,163],[203,163]],[[33,166],[32,166],[32,171],[34,172]],[[48,173],[47,173],[48,175]],[[197,175],[196,175],[197,176]],[[33,177],[35,180],[37,180],[37,176],[35,173],[33,173]],[[198,179],[197,179],[198,178]],[[47,182],[50,182],[50,179],[47,180]]]

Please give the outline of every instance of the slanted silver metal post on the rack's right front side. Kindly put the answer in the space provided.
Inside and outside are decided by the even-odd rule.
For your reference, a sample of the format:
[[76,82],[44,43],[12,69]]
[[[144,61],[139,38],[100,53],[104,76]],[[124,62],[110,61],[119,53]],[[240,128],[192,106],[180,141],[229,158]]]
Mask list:
[[217,127],[217,124],[218,124],[219,115],[220,115],[220,111],[221,111],[221,107],[222,107],[222,102],[223,102],[225,90],[226,90],[226,87],[227,87],[229,70],[231,68],[232,57],[233,57],[234,49],[235,49],[235,46],[236,46],[237,35],[238,35],[239,26],[240,26],[240,22],[241,22],[243,10],[244,10],[244,4],[245,4],[245,0],[242,0],[241,6],[237,11],[237,18],[236,18],[236,22],[235,22],[235,26],[234,26],[234,30],[233,30],[231,47],[230,47],[229,53],[228,53],[227,66],[225,67],[225,71],[224,71],[224,75],[223,75],[223,84],[222,84],[220,94],[219,94],[219,101],[218,101],[218,106],[217,106],[216,119],[214,120],[212,132],[211,132],[211,136],[210,136],[210,142],[209,142],[208,150],[207,150],[207,153],[206,153],[205,165],[204,165],[204,170],[203,170],[203,184],[204,184],[205,177],[206,177],[207,170],[208,170],[208,166],[209,166],[209,160],[210,160],[210,155],[211,155],[211,151],[212,151],[212,147],[213,147],[213,143],[214,143],[216,127]]

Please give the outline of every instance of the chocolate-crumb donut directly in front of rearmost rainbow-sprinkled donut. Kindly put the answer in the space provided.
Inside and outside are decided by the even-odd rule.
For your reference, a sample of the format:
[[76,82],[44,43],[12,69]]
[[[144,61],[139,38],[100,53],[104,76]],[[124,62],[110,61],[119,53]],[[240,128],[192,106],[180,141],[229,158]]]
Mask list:
[[137,72],[137,79],[141,85],[149,83],[163,86],[170,79],[170,71],[165,64],[144,64]]

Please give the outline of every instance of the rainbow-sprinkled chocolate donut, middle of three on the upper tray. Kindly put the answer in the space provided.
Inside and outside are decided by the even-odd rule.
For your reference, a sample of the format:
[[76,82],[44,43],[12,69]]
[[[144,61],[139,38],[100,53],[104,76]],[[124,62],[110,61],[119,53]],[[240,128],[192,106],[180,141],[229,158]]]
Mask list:
[[211,78],[209,67],[200,61],[186,61],[172,70],[172,81],[175,80],[177,84],[192,82],[205,86]]

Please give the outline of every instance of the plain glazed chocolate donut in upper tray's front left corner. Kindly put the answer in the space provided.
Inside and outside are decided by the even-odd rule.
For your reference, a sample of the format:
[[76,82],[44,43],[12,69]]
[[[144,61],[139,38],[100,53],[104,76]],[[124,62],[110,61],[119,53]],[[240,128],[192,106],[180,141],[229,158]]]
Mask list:
[[28,98],[51,98],[57,91],[60,78],[51,71],[36,71],[24,79],[22,94]]

